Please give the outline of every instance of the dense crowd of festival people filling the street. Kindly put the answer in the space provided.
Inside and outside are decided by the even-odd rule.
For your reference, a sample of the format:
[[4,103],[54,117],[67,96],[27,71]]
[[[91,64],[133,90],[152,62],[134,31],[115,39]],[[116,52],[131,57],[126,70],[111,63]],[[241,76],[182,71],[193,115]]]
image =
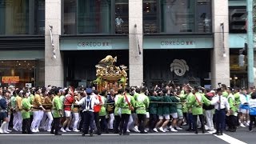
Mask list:
[[[0,88],[0,134],[12,130],[34,134],[45,130],[85,134],[177,132],[198,130],[222,135],[238,127],[256,125],[256,90],[222,84],[209,90],[201,86],[131,86],[102,90],[48,86]],[[11,130],[10,130],[11,129]]]

